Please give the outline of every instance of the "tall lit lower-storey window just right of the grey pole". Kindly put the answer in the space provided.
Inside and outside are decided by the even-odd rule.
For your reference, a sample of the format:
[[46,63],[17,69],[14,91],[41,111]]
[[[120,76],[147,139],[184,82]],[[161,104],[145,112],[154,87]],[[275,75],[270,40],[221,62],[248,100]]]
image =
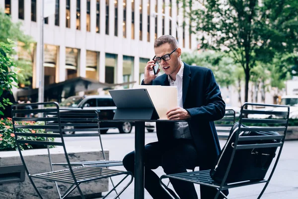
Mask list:
[[45,85],[56,82],[57,46],[44,45]]

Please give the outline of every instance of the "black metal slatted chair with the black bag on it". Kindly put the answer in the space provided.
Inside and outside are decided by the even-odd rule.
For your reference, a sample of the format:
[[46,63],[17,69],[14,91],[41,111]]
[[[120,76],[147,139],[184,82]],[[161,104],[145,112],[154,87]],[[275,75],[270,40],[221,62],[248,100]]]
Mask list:
[[[271,110],[257,110],[257,109],[247,109],[247,106],[271,106],[271,107],[284,107],[287,109],[287,111],[271,111]],[[290,107],[285,106],[285,105],[271,105],[271,104],[258,104],[258,103],[244,103],[241,106],[241,111],[240,111],[240,117],[239,117],[239,128],[238,130],[235,131],[235,141],[234,141],[234,147],[232,150],[232,153],[230,155],[228,167],[225,171],[224,178],[222,183],[218,183],[214,181],[211,176],[210,176],[210,170],[205,170],[205,171],[195,171],[195,172],[188,172],[188,173],[180,173],[180,174],[172,174],[172,175],[163,175],[160,177],[160,185],[162,188],[167,191],[166,185],[162,182],[162,179],[176,179],[176,180],[181,180],[185,182],[190,182],[198,185],[204,185],[207,187],[215,188],[217,190],[217,195],[215,196],[215,199],[217,199],[220,195],[222,195],[225,199],[227,197],[224,195],[222,192],[223,190],[231,189],[231,188],[237,188],[237,187],[242,187],[242,186],[248,186],[248,185],[254,185],[254,184],[261,184],[265,183],[264,188],[262,189],[260,195],[258,196],[258,199],[261,198],[263,195],[265,189],[267,188],[273,173],[276,169],[277,163],[279,161],[282,148],[284,145],[286,133],[287,133],[287,127],[288,127],[288,121],[289,121],[289,112],[290,112]],[[244,118],[244,114],[266,114],[266,115],[276,115],[276,119],[271,119],[271,118],[264,118],[264,119],[257,119],[257,118]],[[286,117],[286,118],[285,118]],[[243,127],[241,126],[242,123],[246,122],[253,122],[253,123],[279,123],[282,126],[279,127],[268,127],[268,126],[250,126],[250,127]],[[248,131],[279,131],[283,132],[283,134],[280,135],[270,135],[270,136],[239,136],[240,132],[248,132]],[[238,144],[238,141],[258,141],[258,140],[280,140],[278,143],[258,143],[258,144]],[[227,140],[228,143],[228,140]],[[268,176],[268,173],[266,177],[262,180],[253,180],[253,181],[244,181],[244,182],[235,182],[235,183],[226,183],[226,179],[229,174],[229,170],[231,168],[233,158],[235,155],[236,150],[241,150],[241,149],[255,149],[255,148],[270,148],[270,147],[279,147],[278,155],[276,157],[276,160],[274,162],[274,166],[271,169],[270,175]],[[273,164],[273,163],[271,163]],[[167,192],[168,193],[168,192]],[[169,194],[170,197],[171,194]],[[178,197],[177,197],[178,198]]]

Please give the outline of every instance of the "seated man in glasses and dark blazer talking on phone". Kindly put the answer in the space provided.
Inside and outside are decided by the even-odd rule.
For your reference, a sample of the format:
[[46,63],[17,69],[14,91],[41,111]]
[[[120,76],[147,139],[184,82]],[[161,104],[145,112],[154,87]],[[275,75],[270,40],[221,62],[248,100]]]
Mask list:
[[[170,199],[152,169],[162,166],[166,174],[187,172],[196,166],[200,170],[211,169],[220,152],[214,121],[224,117],[225,103],[212,71],[183,63],[173,36],[157,38],[154,52],[142,85],[177,86],[178,106],[166,113],[167,118],[188,120],[156,122],[158,141],[145,146],[145,188],[153,199]],[[154,75],[156,63],[160,66],[156,72],[162,68],[165,74]],[[123,165],[128,171],[134,172],[134,159],[134,151],[124,157]],[[171,179],[171,184],[181,199],[198,199],[192,183]],[[212,199],[215,193],[216,190],[201,186],[201,199]]]

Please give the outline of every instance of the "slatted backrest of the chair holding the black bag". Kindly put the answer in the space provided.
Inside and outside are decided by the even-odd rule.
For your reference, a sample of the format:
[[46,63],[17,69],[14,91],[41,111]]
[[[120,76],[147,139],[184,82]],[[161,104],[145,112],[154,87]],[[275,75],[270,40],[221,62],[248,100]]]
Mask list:
[[[256,109],[257,106],[262,106],[265,108]],[[236,157],[235,154],[237,151],[239,152],[239,150],[249,150],[249,153],[247,154],[251,155],[256,150],[262,148],[262,150],[266,149],[267,151],[271,152],[273,150],[273,155],[275,155],[276,149],[279,148],[274,166],[272,167],[271,173],[267,179],[268,182],[270,181],[284,145],[289,121],[289,113],[290,107],[285,105],[244,103],[241,106],[238,127],[235,128],[233,134],[230,135],[227,144],[224,146],[223,149],[224,151],[226,146],[232,146],[231,154],[229,155],[230,159],[229,161],[226,160],[228,162],[228,166],[226,169],[224,169],[225,173],[222,181],[222,186],[224,185],[224,183],[227,182],[226,179],[228,175],[230,175],[229,172],[232,164],[234,164],[235,162],[239,162],[239,160],[236,160],[236,158],[234,158]],[[237,158],[239,158],[239,154],[240,153],[238,153]],[[258,154],[256,152],[256,155],[261,155],[258,157],[262,159],[264,157],[262,155],[268,154]],[[272,157],[272,159],[273,158],[274,156]],[[241,157],[241,159],[246,160],[246,157]],[[253,160],[255,159],[251,158],[251,161]],[[266,166],[266,172],[271,164],[271,161],[272,160],[269,160],[269,165],[268,167]],[[239,169],[241,170],[242,168]],[[266,172],[263,173],[264,177]]]

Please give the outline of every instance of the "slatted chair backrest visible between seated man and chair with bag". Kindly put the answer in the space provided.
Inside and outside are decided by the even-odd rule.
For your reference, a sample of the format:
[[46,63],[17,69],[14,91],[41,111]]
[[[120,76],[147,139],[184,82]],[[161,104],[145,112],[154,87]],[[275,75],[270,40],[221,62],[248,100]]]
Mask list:
[[226,109],[224,117],[220,120],[214,121],[216,131],[219,138],[227,138],[231,127],[235,123],[235,111],[233,109]]

